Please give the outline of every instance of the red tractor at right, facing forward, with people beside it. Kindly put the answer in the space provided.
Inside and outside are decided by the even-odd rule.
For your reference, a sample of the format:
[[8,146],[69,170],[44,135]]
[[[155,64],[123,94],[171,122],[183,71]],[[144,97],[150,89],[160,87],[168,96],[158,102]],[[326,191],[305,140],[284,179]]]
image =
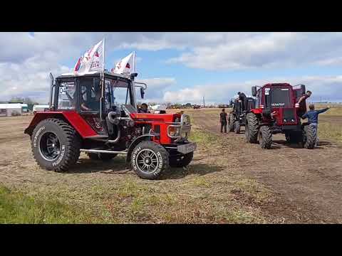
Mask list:
[[285,134],[286,141],[314,149],[316,130],[301,124],[301,115],[306,112],[306,102],[297,105],[305,93],[305,85],[291,86],[288,83],[269,83],[257,89],[252,87],[252,95],[257,97],[255,108],[246,119],[246,140],[258,143],[263,149],[270,149],[272,134]]

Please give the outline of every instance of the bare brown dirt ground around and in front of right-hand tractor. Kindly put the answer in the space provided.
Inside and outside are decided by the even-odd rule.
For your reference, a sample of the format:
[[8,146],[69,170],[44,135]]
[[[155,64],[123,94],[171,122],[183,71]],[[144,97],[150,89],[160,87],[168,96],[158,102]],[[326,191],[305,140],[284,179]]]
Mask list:
[[[219,110],[189,110],[195,123],[209,132],[219,134],[227,149],[224,156],[236,159],[246,176],[256,178],[278,193],[284,203],[296,207],[296,213],[307,218],[304,222],[342,223],[342,148],[329,139],[320,139],[314,150],[286,144],[284,135],[274,136],[274,146],[261,150],[257,144],[244,142],[242,134],[220,134]],[[329,122],[342,132],[341,115],[324,115],[320,122]],[[340,133],[341,134],[341,133]],[[231,155],[231,156],[229,156]],[[286,215],[287,207],[278,211]]]

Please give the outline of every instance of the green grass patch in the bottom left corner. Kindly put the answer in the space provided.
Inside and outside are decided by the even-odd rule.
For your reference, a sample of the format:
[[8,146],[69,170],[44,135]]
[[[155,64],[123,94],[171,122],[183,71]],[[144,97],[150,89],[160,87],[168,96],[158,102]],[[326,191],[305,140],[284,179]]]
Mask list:
[[0,186],[0,223],[93,223],[93,216],[59,201],[40,200]]

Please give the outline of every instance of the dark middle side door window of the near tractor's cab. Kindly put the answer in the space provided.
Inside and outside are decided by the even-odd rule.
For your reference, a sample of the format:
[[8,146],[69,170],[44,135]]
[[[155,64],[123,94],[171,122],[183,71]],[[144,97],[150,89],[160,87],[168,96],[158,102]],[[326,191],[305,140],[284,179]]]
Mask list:
[[99,78],[80,79],[81,111],[100,111],[101,86]]

